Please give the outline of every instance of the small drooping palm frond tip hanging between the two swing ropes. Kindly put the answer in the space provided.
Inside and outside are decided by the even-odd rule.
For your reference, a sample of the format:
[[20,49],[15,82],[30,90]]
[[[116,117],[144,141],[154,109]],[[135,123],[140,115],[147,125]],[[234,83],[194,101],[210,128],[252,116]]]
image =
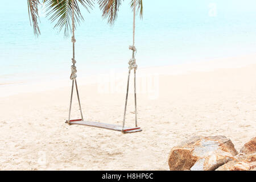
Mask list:
[[117,12],[122,1],[123,0],[98,0],[100,10],[102,10],[102,17],[108,18],[109,24],[114,24],[114,21],[117,19]]

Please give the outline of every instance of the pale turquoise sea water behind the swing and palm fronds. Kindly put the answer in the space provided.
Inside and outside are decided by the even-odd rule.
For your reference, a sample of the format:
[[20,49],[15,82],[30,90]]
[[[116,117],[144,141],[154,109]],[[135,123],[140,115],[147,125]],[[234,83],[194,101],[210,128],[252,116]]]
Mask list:
[[[1,0],[3,1],[3,0]],[[76,31],[79,74],[126,69],[131,57],[133,14],[125,1],[110,27],[98,5]],[[256,1],[144,0],[143,19],[137,18],[139,67],[182,64],[255,53]],[[3,6],[3,3],[1,3]],[[216,7],[216,9],[214,9]],[[0,84],[43,78],[48,73],[67,77],[72,43],[54,24],[40,18],[36,38],[28,19],[27,1],[5,1],[0,11]]]

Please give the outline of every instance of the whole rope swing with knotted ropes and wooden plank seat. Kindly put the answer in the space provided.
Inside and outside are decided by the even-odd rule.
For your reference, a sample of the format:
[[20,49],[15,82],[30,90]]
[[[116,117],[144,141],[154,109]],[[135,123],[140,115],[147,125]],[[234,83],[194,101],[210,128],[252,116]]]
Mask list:
[[[92,127],[98,127],[101,129],[108,129],[108,130],[114,130],[114,131],[121,131],[122,133],[137,133],[142,131],[140,127],[137,125],[137,96],[136,96],[136,70],[137,70],[137,64],[135,59],[135,52],[137,51],[134,46],[134,40],[135,40],[135,11],[136,11],[136,0],[133,2],[134,9],[133,9],[133,46],[129,46],[129,49],[133,51],[132,58],[129,61],[129,73],[128,73],[128,81],[127,81],[127,90],[126,90],[126,100],[125,100],[125,111],[123,114],[123,125],[111,125],[107,123],[101,123],[101,122],[91,122],[91,121],[85,121],[84,117],[82,116],[82,109],[80,104],[80,98],[79,98],[79,91],[77,88],[77,81],[76,81],[76,60],[75,60],[75,20],[74,20],[74,0],[72,0],[72,43],[73,43],[73,58],[71,66],[71,76],[70,79],[72,80],[72,89],[71,89],[71,100],[69,105],[69,115],[68,120],[65,123],[68,123],[68,125],[83,125],[83,126],[92,126]],[[125,127],[125,117],[126,117],[126,107],[127,107],[127,100],[128,100],[128,92],[129,92],[129,81],[130,81],[130,73],[131,70],[134,69],[134,98],[135,98],[135,127]],[[80,114],[81,119],[70,119],[71,117],[71,106],[72,106],[72,97],[73,97],[73,89],[74,84],[76,85],[76,93],[77,93],[77,99],[79,102],[79,108],[80,108]]]

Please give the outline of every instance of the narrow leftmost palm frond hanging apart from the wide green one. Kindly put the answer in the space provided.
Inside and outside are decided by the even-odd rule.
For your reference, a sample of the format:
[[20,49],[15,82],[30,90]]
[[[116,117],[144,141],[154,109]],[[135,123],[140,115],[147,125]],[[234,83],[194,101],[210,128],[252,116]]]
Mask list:
[[40,35],[40,30],[38,26],[39,14],[38,5],[40,5],[39,0],[27,0],[28,16],[30,18],[30,24],[33,24],[34,34],[36,36]]

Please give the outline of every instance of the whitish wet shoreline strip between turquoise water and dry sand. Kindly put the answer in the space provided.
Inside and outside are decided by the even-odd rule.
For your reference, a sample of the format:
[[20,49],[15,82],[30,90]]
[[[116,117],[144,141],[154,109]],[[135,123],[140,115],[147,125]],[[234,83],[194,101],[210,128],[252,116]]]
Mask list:
[[[241,61],[242,60],[242,61]],[[148,75],[186,75],[193,72],[211,72],[217,69],[225,68],[243,68],[250,64],[256,64],[256,55],[245,55],[238,57],[226,57],[222,59],[214,59],[208,61],[194,61],[193,63],[184,63],[176,65],[168,65],[164,67],[146,67],[138,68],[138,77],[147,77]],[[40,73],[43,76],[43,73]],[[46,90],[64,88],[70,86],[69,72],[46,73],[44,77],[38,77],[30,80],[9,81],[0,83],[0,97],[12,96],[19,93],[27,92],[43,92]],[[117,79],[127,77],[127,69],[106,69],[105,72],[96,73],[94,75],[84,76],[81,69],[77,72],[77,80],[79,85],[98,84],[102,77],[117,77]],[[28,89],[29,88],[29,89]]]

